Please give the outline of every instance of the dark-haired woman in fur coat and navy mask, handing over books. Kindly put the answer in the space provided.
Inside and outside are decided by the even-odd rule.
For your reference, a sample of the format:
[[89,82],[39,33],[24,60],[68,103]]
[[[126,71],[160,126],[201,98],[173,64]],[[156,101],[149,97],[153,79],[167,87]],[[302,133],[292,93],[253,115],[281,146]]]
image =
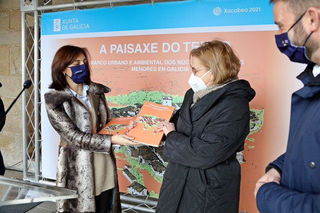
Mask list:
[[112,143],[138,144],[134,137],[99,134],[111,119],[105,93],[90,79],[87,48],[66,45],[52,62],[45,94],[50,123],[60,134],[57,186],[78,190],[78,198],[57,200],[57,212],[121,212]]

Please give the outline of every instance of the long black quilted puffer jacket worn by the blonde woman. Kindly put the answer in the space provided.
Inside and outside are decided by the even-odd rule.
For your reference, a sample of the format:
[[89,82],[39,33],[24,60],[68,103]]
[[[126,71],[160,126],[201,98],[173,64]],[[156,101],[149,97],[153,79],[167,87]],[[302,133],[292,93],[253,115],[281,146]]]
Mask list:
[[255,91],[237,80],[200,98],[190,109],[189,89],[171,118],[176,131],[167,134],[169,159],[157,212],[238,212],[240,165],[249,133],[249,101]]

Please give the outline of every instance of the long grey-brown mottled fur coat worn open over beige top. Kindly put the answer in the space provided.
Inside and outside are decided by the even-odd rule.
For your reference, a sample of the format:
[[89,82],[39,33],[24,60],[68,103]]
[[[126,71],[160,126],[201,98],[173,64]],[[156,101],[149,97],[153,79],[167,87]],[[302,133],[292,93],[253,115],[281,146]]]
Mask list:
[[[97,132],[111,119],[110,109],[105,94],[110,91],[100,83],[92,82],[93,105],[97,112]],[[93,151],[107,152],[112,155],[115,174],[115,193],[113,212],[121,212],[117,167],[111,136],[93,134],[90,112],[72,95],[69,88],[64,90],[50,89],[45,94],[46,109],[51,125],[68,145],[60,146],[57,186],[78,190],[79,196],[74,199],[57,200],[57,212],[95,212],[95,183],[93,170]]]

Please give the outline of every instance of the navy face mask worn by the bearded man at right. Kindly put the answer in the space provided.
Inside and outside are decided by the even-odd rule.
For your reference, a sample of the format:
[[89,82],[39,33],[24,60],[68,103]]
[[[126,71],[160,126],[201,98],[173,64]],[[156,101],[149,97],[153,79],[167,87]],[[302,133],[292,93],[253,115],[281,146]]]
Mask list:
[[[305,11],[306,12],[306,11]],[[305,12],[293,23],[288,31],[302,18]],[[305,42],[309,39],[312,32],[307,36],[302,46],[297,46],[291,43],[288,37],[288,31],[279,35],[275,35],[275,42],[280,52],[286,54],[293,62],[298,63],[313,63],[308,56],[306,56]]]

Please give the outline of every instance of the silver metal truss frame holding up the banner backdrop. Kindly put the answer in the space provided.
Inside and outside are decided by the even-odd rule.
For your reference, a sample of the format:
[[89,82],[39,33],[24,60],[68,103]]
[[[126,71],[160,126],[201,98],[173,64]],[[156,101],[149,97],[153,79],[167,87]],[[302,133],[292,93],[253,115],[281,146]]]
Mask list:
[[[48,184],[54,184],[54,182],[46,180],[40,169],[42,162],[40,108],[43,104],[40,98],[40,22],[43,12],[150,3],[150,0],[72,0],[72,3],[64,3],[63,1],[66,0],[58,1],[58,4],[53,4],[53,0],[21,0],[22,84],[27,79],[31,79],[33,83],[22,95],[23,179]],[[158,0],[157,2],[160,1],[176,0]],[[155,0],[151,0],[152,5],[154,2]],[[32,17],[34,21],[31,21]],[[121,200],[122,208],[126,208],[123,209],[124,212],[155,212],[157,205],[157,201],[148,200],[148,197],[138,198],[131,194],[122,194]]]

